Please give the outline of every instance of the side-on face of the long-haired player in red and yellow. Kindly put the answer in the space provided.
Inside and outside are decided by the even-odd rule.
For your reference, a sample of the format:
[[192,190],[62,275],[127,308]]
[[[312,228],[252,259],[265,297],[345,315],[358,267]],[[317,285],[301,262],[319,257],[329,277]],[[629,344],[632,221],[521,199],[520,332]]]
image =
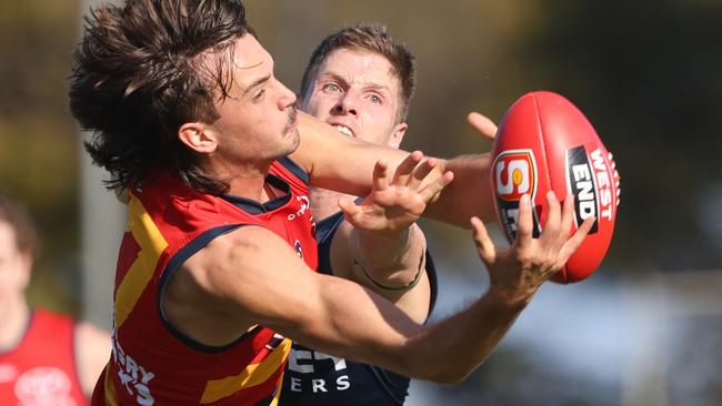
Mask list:
[[230,97],[217,105],[221,159],[273,161],[299,145],[295,94],[273,75],[273,59],[253,35],[241,37],[234,50]]

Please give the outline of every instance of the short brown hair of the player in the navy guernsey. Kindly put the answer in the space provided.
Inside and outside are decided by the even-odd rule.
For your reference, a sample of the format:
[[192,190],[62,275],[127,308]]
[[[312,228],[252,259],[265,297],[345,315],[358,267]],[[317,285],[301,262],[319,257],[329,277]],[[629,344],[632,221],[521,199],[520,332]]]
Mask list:
[[409,104],[417,88],[417,68],[414,57],[401,42],[394,41],[385,26],[379,23],[357,23],[324,38],[311,54],[309,64],[301,80],[301,97],[305,98],[313,89],[319,69],[323,61],[337,49],[355,49],[370,51],[384,57],[401,82],[401,103],[399,122],[409,115]]

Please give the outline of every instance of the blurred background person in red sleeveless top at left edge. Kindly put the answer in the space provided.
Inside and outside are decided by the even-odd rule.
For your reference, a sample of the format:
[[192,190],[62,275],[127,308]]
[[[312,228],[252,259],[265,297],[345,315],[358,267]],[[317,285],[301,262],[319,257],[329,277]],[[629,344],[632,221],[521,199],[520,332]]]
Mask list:
[[87,405],[110,336],[86,322],[30,308],[37,252],[27,210],[0,195],[0,405]]

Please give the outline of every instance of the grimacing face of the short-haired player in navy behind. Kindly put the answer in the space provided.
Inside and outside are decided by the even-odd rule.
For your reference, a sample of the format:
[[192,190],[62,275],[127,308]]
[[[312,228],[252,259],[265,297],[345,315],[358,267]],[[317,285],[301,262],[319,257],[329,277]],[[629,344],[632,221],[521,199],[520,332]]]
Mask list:
[[338,49],[320,65],[303,110],[341,133],[398,148],[401,84],[391,63],[377,53]]

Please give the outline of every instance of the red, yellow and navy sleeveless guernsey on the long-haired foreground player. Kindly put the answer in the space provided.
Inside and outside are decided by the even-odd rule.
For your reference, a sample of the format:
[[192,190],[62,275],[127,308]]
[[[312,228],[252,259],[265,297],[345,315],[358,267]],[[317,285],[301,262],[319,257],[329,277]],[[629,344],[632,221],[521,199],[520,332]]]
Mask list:
[[223,347],[207,347],[177,331],[160,307],[167,282],[185,260],[243,225],[280,235],[315,270],[308,175],[284,159],[273,163],[267,182],[284,195],[263,204],[214,196],[170,173],[130,189],[116,273],[113,352],[93,405],[275,405],[288,338],[257,326]]

